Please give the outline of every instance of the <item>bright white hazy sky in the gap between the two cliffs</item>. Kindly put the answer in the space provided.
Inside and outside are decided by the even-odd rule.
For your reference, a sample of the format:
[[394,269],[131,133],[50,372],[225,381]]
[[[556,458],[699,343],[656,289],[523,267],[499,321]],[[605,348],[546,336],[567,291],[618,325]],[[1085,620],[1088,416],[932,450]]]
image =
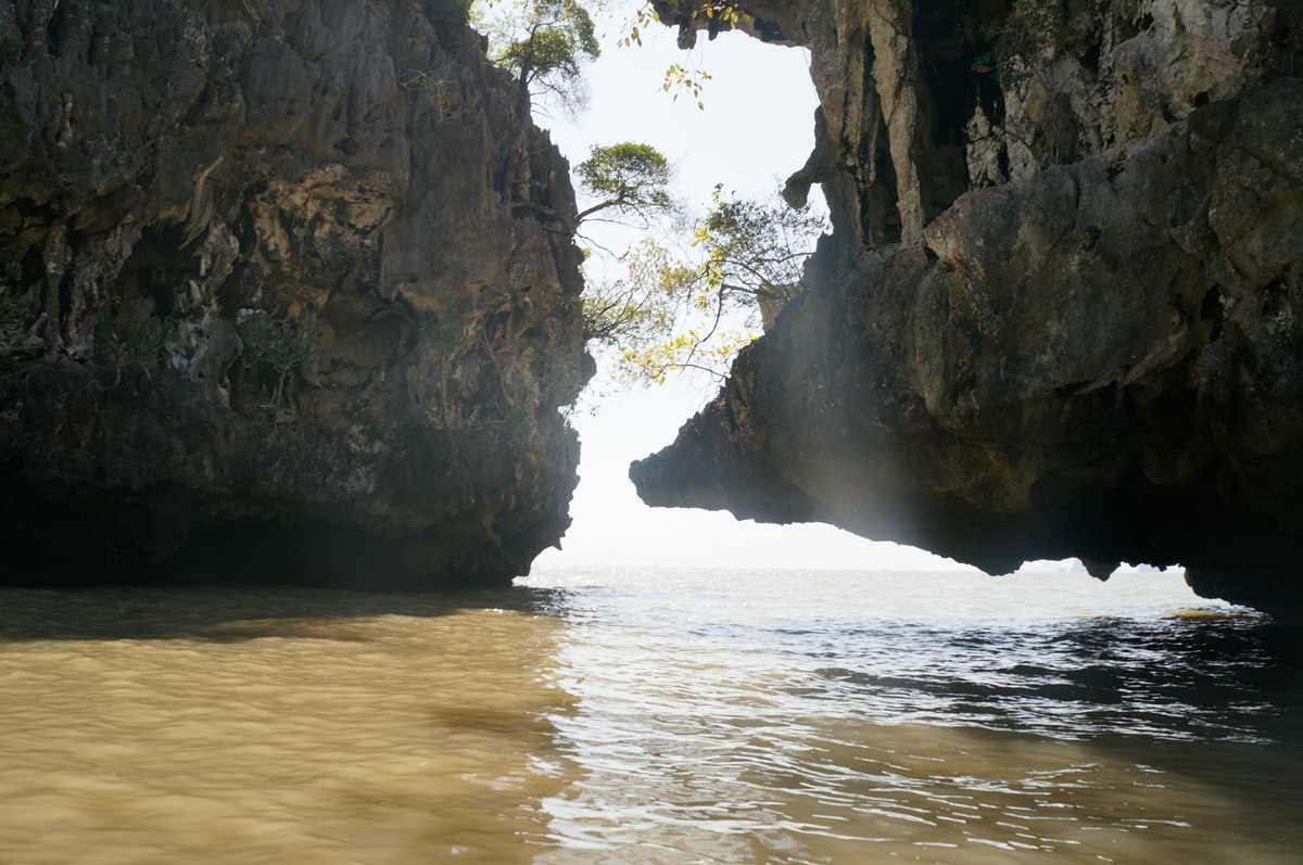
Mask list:
[[[602,30],[599,25],[599,30]],[[706,109],[663,92],[666,68],[684,63],[671,31],[653,27],[644,46],[610,46],[589,69],[592,102],[576,124],[539,117],[572,165],[593,145],[648,143],[678,168],[678,188],[700,208],[715,184],[744,197],[775,189],[775,177],[800,168],[813,146],[817,99],[808,53],[765,46],[741,34],[705,43],[713,79]],[[637,233],[602,238],[623,249]],[[657,564],[774,568],[969,569],[913,547],[872,542],[827,525],[775,526],[730,513],[648,508],[628,479],[628,465],[670,444],[679,426],[711,396],[701,384],[671,382],[606,400],[595,417],[572,419],[582,440],[575,520],[541,564]],[[1044,563],[1049,564],[1049,563]],[[1053,563],[1054,569],[1061,567]]]

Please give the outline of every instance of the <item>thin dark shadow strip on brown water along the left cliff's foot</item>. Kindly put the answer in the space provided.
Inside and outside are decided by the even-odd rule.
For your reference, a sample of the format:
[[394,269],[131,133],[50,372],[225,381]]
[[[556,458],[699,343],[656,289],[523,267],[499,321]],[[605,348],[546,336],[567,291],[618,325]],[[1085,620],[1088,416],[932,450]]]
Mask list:
[[347,620],[437,617],[468,610],[559,616],[568,591],[511,586],[367,593],[288,588],[0,588],[0,642],[35,640],[194,640],[300,637],[367,642]]

